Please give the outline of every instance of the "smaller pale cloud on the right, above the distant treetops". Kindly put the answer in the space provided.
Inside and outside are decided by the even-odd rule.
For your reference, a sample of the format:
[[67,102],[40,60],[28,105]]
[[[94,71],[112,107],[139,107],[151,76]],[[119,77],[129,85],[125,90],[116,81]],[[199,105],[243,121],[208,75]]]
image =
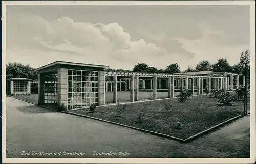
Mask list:
[[199,39],[188,40],[183,37],[177,37],[181,48],[195,54],[195,58],[190,65],[195,66],[202,60],[208,60],[212,64],[220,58],[227,58],[229,64],[233,65],[239,61],[240,53],[249,48],[249,45],[228,45],[224,44],[225,34],[221,30],[214,30],[206,24],[199,24],[203,36]]

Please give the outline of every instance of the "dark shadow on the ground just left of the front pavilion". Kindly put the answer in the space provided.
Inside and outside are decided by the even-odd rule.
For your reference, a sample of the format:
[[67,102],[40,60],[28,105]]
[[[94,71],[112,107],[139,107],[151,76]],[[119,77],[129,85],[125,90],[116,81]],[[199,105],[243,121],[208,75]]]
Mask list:
[[56,113],[56,112],[48,110],[46,108],[42,108],[42,107],[34,106],[34,105],[19,106],[19,107],[16,107],[16,109],[25,114]]

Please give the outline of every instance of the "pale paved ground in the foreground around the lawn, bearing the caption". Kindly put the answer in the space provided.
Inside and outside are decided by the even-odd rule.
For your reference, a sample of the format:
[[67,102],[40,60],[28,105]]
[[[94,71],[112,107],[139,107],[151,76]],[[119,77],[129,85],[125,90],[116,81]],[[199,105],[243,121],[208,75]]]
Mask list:
[[[248,157],[249,117],[191,143],[160,138],[130,128],[83,117],[55,113],[7,97],[7,157],[78,157],[63,152],[84,152],[80,157]],[[22,155],[22,152],[30,155]],[[52,153],[52,155],[32,155]],[[129,152],[128,156],[93,156],[93,151]],[[61,155],[55,155],[54,153]],[[127,154],[127,153],[126,153]]]

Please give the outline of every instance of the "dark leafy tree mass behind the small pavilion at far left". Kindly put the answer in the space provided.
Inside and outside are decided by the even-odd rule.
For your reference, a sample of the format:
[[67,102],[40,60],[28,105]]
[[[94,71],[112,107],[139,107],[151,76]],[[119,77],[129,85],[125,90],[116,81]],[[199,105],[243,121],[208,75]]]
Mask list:
[[30,78],[37,81],[37,72],[29,65],[9,62],[6,64],[6,79],[9,78]]

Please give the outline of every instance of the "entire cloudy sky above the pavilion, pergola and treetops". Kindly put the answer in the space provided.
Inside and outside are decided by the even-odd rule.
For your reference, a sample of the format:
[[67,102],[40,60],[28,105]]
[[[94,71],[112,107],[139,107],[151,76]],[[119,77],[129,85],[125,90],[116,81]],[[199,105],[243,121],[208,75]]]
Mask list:
[[131,70],[230,65],[250,46],[249,6],[6,6],[6,62],[69,61]]

